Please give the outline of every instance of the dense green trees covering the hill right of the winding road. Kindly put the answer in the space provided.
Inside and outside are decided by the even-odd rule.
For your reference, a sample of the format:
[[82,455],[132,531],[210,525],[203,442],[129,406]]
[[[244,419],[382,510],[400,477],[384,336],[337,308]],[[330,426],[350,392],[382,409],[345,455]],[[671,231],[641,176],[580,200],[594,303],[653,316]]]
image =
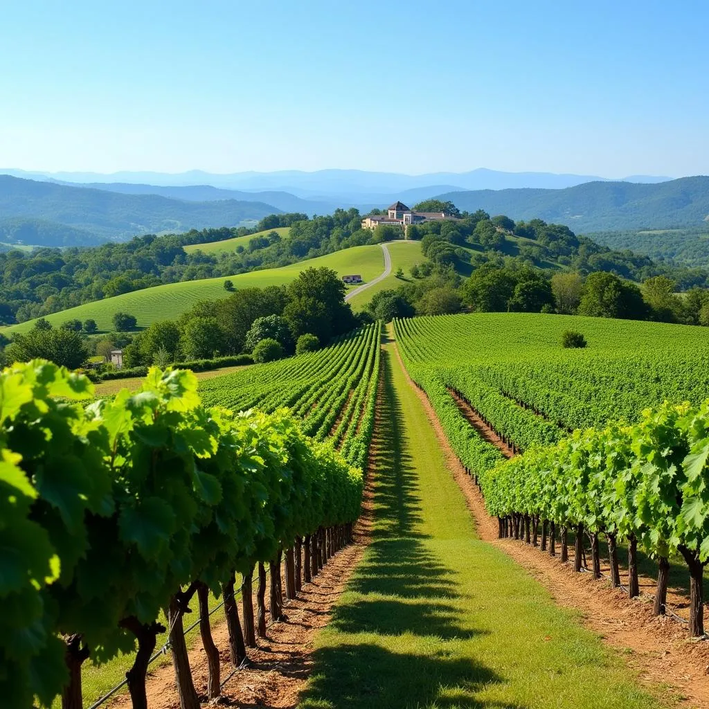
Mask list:
[[[709,325],[707,273],[613,252],[568,227],[483,211],[413,225],[425,261],[368,306],[373,318],[474,312],[564,313]],[[464,276],[462,273],[469,275]],[[684,289],[680,294],[679,289]]]

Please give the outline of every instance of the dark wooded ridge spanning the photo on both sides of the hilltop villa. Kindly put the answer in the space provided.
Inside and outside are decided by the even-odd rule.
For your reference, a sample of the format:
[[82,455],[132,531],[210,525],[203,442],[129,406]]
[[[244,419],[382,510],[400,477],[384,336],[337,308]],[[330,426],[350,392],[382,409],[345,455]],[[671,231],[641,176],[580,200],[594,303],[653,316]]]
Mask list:
[[[666,275],[678,287],[708,285],[700,268],[657,264],[628,250],[611,250],[588,238],[574,235],[568,227],[533,219],[515,223],[504,215],[490,217],[478,210],[460,211],[450,202],[427,200],[417,211],[445,212],[454,220],[411,225],[406,237],[432,245],[435,262],[459,260],[474,268],[484,262],[516,259],[548,268],[553,264],[581,274],[608,271],[633,281]],[[378,213],[381,210],[373,210]],[[380,225],[374,232],[362,230],[362,215],[355,208],[337,209],[329,216],[274,214],[255,228],[219,228],[165,236],[147,235],[130,242],[100,247],[41,248],[26,253],[0,253],[0,325],[11,325],[65,310],[91,301],[152,286],[213,277],[229,277],[255,269],[281,267],[351,246],[403,238],[403,230]],[[288,238],[274,231],[289,227]],[[247,245],[218,255],[187,253],[186,245],[254,235]],[[513,238],[514,237],[514,238]],[[430,242],[435,242],[431,244]],[[462,247],[472,247],[470,254]]]

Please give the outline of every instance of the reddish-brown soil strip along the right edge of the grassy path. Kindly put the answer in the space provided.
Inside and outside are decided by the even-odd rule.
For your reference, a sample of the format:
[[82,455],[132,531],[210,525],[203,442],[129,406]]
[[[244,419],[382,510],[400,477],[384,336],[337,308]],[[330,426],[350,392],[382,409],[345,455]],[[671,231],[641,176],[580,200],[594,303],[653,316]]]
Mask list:
[[[401,362],[396,345],[395,351]],[[450,447],[428,397],[413,384],[408,374],[406,376],[423,403],[447,457],[448,467],[475,518],[481,539],[500,547],[524,566],[547,588],[556,603],[579,611],[584,626],[622,652],[642,683],[655,691],[669,686],[673,694],[686,700],[688,705],[709,709],[709,643],[691,640],[686,628],[671,618],[652,615],[652,604],[647,596],[630,600],[620,589],[611,588],[608,581],[594,581],[591,574],[574,573],[572,547],[569,548],[569,563],[562,564],[558,558],[540,552],[538,547],[513,539],[498,539],[497,520],[486,512],[480,491]],[[652,579],[642,577],[640,584],[647,591],[652,591],[654,586]],[[671,591],[668,601],[681,605],[686,603],[686,598]]]

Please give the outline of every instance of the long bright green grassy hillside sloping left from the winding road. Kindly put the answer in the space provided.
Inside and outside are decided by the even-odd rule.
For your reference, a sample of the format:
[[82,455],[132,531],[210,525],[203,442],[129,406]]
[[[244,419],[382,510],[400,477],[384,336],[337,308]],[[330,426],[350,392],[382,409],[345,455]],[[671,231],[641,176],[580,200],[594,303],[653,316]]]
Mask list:
[[[404,245],[408,246],[408,245]],[[415,248],[415,247],[413,247]],[[384,255],[379,246],[355,246],[350,249],[337,251],[333,254],[308,259],[297,264],[284,266],[278,269],[265,269],[253,271],[230,277],[236,289],[253,286],[281,286],[290,283],[298,274],[309,267],[325,266],[335,270],[340,276],[349,273],[359,273],[364,281],[369,281],[381,274],[384,270]],[[393,270],[396,270],[396,261],[392,259]],[[170,320],[178,318],[184,311],[189,310],[195,303],[214,298],[225,298],[229,295],[224,290],[224,278],[210,278],[201,281],[186,281],[184,283],[171,283],[155,286],[142,291],[133,291],[113,298],[105,298],[93,303],[84,303],[76,308],[69,308],[59,313],[52,313],[46,319],[52,325],[61,325],[65,320],[78,318],[96,320],[99,330],[112,330],[111,318],[113,313],[122,311],[138,318],[138,327],[145,328],[157,320]],[[21,325],[4,328],[3,333],[9,335],[15,332],[25,332],[33,327],[33,320],[28,320]]]

